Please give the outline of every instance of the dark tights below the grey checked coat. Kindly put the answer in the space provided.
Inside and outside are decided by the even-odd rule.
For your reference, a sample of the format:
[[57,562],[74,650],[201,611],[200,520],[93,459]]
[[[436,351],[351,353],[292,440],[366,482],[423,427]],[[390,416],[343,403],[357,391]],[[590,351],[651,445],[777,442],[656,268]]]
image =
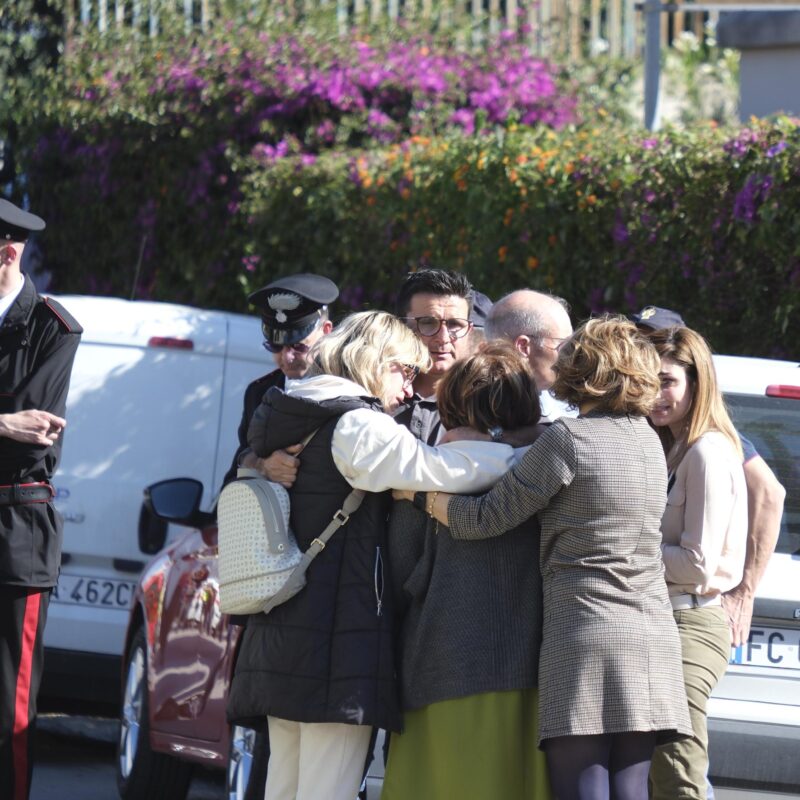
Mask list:
[[545,742],[556,800],[647,800],[656,735],[557,736]]

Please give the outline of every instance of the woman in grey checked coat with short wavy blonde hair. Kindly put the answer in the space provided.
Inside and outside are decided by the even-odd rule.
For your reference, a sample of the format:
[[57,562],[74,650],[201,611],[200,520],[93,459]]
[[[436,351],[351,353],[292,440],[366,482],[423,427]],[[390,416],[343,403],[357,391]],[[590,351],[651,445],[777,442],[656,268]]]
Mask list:
[[561,348],[553,393],[577,405],[482,497],[428,493],[458,539],[541,525],[540,746],[559,800],[646,800],[653,748],[691,733],[661,562],[667,476],[646,415],[655,349],[603,317]]

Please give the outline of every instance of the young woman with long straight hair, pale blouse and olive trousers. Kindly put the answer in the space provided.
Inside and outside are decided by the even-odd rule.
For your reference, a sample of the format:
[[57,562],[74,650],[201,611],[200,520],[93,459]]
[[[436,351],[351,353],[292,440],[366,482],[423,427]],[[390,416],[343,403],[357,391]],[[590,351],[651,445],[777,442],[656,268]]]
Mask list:
[[650,339],[661,357],[661,393],[650,419],[669,470],[661,550],[694,731],[691,739],[656,751],[653,797],[705,800],[706,704],[730,656],[730,627],[720,597],[739,584],[746,550],[742,446],[703,337],[689,328],[667,328]]

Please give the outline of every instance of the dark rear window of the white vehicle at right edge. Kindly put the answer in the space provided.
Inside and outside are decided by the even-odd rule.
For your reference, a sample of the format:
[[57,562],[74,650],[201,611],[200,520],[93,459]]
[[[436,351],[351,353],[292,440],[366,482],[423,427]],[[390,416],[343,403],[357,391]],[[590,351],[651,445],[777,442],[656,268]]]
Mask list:
[[800,401],[726,394],[737,429],[786,489],[778,553],[800,555]]

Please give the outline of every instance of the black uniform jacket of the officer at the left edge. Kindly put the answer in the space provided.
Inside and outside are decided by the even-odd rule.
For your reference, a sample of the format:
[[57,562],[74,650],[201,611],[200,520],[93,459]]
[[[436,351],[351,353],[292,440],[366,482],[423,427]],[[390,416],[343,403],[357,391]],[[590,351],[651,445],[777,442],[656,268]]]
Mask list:
[[[0,414],[38,409],[63,417],[82,332],[26,276],[0,326]],[[45,447],[0,437],[0,485],[49,481],[62,440]],[[0,505],[0,584],[54,586],[60,560],[61,517],[52,503]]]

